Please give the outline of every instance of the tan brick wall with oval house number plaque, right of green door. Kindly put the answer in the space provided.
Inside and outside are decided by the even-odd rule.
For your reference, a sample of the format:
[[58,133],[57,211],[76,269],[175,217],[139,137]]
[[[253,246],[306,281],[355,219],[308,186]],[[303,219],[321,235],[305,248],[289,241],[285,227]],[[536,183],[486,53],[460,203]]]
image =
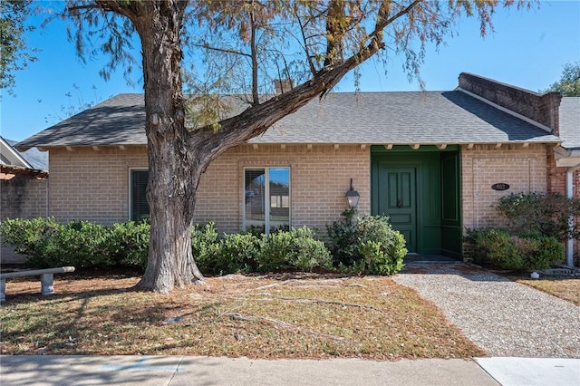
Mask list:
[[[546,192],[546,148],[544,145],[476,145],[461,151],[463,179],[463,227],[499,227],[505,220],[494,207],[510,193]],[[495,183],[509,189],[493,190]]]

